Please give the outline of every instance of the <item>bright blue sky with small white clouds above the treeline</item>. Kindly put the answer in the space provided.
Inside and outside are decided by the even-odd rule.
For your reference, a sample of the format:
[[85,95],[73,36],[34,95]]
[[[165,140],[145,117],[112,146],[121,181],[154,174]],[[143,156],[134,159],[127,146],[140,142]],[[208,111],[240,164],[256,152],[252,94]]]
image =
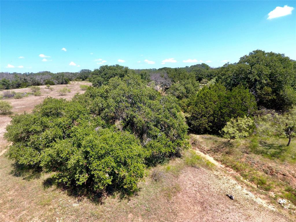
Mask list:
[[219,67],[255,49],[296,59],[295,1],[0,4],[2,72],[76,72],[102,64],[185,67],[201,61]]

